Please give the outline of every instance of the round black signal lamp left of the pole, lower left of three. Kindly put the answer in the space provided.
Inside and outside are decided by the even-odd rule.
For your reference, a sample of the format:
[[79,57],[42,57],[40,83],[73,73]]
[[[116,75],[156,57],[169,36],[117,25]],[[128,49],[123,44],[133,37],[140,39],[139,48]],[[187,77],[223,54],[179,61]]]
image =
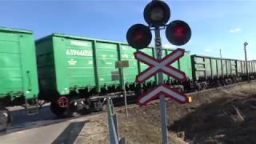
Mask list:
[[126,33],[126,40],[135,49],[146,48],[152,40],[150,28],[142,24],[131,26]]

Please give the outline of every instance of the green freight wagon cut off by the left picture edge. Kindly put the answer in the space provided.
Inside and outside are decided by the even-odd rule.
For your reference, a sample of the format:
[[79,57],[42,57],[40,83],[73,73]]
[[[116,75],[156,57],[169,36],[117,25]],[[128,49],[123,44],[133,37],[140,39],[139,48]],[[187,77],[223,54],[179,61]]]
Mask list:
[[10,121],[6,106],[38,106],[34,50],[31,31],[0,27],[0,130]]

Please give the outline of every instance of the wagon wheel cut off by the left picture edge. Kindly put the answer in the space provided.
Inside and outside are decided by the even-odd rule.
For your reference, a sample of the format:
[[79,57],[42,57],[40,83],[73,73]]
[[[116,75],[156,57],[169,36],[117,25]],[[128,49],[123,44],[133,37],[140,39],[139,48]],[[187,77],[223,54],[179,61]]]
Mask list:
[[0,131],[6,130],[7,126],[10,125],[11,119],[10,111],[6,108],[0,108]]

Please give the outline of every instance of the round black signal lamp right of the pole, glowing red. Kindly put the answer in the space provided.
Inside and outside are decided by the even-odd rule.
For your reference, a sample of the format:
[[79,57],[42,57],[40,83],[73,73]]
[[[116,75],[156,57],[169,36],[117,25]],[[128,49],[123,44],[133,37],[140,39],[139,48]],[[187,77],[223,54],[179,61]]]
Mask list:
[[190,41],[190,26],[183,21],[173,21],[166,27],[166,38],[175,46],[185,45]]

